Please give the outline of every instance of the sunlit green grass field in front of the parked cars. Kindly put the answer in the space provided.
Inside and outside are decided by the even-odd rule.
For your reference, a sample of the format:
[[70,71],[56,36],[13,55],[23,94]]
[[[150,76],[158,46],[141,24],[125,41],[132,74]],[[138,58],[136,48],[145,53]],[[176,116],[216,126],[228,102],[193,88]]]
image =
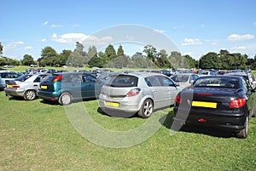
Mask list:
[[[34,101],[9,99],[5,97],[4,92],[0,92],[0,101],[0,170],[255,170],[256,168],[255,117],[250,121],[247,139],[243,140],[232,136],[191,131],[180,131],[171,135],[172,108],[154,112],[152,119],[148,121],[139,117],[120,118],[104,115],[97,111],[97,100],[87,100],[64,107],[46,104],[39,99]],[[71,117],[77,119],[79,117],[78,122],[85,118],[85,115],[79,112],[81,106],[86,108],[95,123],[107,130],[125,133],[148,122],[153,126],[159,126],[159,129],[138,145],[126,148],[96,145],[73,127]],[[90,130],[90,123],[82,127],[85,131]],[[147,129],[141,134],[145,132]],[[98,136],[100,133],[95,131],[90,134]],[[114,143],[122,145],[125,139],[116,140]]]

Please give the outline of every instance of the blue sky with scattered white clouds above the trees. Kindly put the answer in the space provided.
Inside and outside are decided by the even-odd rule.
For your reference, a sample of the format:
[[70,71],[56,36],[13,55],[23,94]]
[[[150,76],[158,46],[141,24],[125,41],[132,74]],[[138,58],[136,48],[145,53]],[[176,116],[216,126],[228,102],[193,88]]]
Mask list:
[[[130,24],[134,31],[137,26],[139,29],[145,26],[146,30],[158,32],[159,37],[163,35],[172,41],[181,54],[189,54],[196,60],[220,49],[247,54],[250,58],[256,54],[254,0],[0,0],[0,4],[3,56],[17,60],[24,54],[37,60],[46,46],[55,48],[57,53],[73,50],[75,42],[83,43],[85,51],[90,45],[96,45],[99,51],[109,43],[116,47],[122,44],[125,54],[135,54],[146,41],[141,43],[141,39],[135,38],[125,43],[127,40],[114,38],[114,29],[109,30]],[[115,31],[129,37],[128,32],[133,29]],[[147,32],[133,37],[140,34],[145,40],[150,37],[148,43],[153,45],[154,40],[161,42]],[[91,44],[83,42],[88,37]],[[170,54],[172,49],[166,51]]]

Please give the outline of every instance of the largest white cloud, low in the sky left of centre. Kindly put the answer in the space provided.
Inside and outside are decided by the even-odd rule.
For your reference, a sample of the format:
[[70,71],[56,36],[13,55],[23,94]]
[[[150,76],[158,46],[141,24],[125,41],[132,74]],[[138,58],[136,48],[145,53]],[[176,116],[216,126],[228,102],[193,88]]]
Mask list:
[[58,36],[56,33],[52,35],[52,41],[57,43],[83,43],[84,45],[107,45],[113,41],[112,37],[95,37],[88,36],[84,33],[67,33]]

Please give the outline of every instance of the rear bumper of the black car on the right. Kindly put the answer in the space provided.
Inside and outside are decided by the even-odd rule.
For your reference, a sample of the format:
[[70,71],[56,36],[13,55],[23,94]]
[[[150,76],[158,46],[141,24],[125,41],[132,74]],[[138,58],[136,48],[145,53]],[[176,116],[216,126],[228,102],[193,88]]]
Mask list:
[[247,114],[239,113],[222,113],[221,111],[203,112],[196,110],[182,110],[174,107],[173,122],[178,124],[195,125],[201,127],[211,127],[224,129],[231,132],[239,132],[244,127]]

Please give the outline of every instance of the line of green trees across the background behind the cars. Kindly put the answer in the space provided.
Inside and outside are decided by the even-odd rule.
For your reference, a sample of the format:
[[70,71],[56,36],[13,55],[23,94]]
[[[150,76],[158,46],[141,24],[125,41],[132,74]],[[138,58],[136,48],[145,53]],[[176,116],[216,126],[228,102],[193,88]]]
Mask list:
[[[0,54],[3,54],[3,45],[0,43]],[[256,55],[254,59],[248,59],[247,54],[230,54],[226,49],[221,49],[219,53],[209,52],[195,60],[189,54],[182,55],[173,51],[167,54],[165,49],[158,51],[153,45],[143,47],[143,52],[136,52],[132,56],[126,55],[122,45],[117,51],[112,44],[109,44],[105,51],[97,52],[95,46],[90,46],[87,51],[84,45],[77,42],[74,50],[64,49],[58,54],[54,48],[45,47],[41,51],[38,60],[34,60],[32,55],[25,54],[22,60],[13,60],[8,57],[0,57],[0,66],[96,66],[96,67],[116,67],[116,68],[201,68],[201,69],[256,69]]]

